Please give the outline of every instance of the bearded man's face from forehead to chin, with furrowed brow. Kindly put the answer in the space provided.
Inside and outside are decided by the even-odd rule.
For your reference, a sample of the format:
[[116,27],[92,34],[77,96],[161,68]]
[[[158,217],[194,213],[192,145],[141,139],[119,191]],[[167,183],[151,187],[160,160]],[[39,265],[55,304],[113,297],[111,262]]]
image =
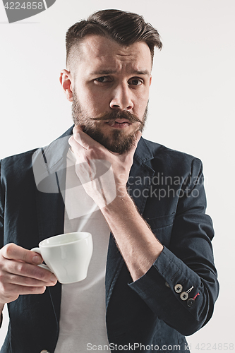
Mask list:
[[147,117],[150,49],[145,42],[122,47],[90,35],[78,50],[72,73],[73,121],[109,150],[126,152]]

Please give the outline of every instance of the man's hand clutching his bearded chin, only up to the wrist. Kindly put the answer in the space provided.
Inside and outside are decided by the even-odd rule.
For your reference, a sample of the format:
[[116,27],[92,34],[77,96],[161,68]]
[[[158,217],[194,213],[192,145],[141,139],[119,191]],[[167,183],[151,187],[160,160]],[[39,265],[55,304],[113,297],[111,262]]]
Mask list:
[[93,140],[80,126],[73,128],[73,136],[68,142],[76,155],[76,173],[85,191],[100,208],[116,196],[127,195],[126,183],[140,136],[139,132],[131,150],[119,155]]

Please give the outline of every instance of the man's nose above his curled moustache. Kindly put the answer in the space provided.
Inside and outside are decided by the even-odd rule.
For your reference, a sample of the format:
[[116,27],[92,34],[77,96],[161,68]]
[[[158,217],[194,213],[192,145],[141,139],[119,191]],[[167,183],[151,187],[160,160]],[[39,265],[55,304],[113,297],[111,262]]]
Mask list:
[[131,90],[128,84],[117,85],[112,92],[112,100],[110,101],[112,109],[131,110],[133,102],[131,99]]

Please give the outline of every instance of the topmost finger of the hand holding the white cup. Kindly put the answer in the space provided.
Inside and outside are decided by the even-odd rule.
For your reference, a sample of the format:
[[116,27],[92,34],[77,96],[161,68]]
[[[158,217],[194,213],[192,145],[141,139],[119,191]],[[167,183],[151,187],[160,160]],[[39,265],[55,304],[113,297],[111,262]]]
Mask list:
[[35,265],[39,265],[43,261],[42,256],[40,256],[39,253],[24,249],[13,243],[6,244],[1,249],[1,254],[8,260],[24,261],[25,263],[32,263]]

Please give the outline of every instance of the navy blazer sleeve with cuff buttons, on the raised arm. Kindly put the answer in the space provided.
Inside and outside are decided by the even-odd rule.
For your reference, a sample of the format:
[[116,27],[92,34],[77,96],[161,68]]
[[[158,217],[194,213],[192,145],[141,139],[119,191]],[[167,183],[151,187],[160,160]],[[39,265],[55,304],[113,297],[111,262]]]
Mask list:
[[168,249],[164,246],[150,270],[129,284],[160,319],[183,335],[192,335],[210,320],[219,292],[200,160],[193,160],[188,180],[181,185],[183,197]]

